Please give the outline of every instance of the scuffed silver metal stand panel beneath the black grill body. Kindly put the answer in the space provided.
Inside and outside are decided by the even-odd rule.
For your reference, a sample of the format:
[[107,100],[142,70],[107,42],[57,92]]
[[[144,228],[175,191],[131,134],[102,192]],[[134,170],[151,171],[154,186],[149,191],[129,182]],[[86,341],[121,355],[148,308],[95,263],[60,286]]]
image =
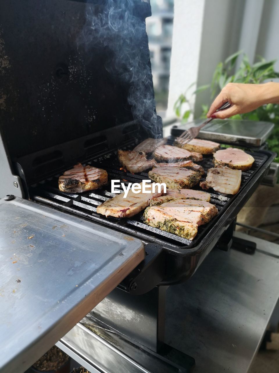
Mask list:
[[131,295],[114,289],[92,311],[92,316],[119,333],[158,352],[164,343],[167,286]]

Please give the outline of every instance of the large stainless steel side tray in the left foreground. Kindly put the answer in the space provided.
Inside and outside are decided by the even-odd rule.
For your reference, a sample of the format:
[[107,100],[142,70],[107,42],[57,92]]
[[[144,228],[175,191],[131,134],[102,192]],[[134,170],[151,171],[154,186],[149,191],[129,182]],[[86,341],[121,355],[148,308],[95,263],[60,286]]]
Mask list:
[[145,256],[142,241],[19,197],[0,200],[0,371],[20,373]]

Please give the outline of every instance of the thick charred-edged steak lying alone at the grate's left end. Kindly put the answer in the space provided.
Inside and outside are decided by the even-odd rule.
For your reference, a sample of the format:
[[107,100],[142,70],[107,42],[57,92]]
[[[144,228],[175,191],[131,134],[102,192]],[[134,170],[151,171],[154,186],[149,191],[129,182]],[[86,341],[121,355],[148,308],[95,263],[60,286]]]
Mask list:
[[81,193],[97,189],[107,182],[108,173],[106,170],[89,165],[83,167],[81,163],[78,163],[59,177],[58,187],[62,192]]

